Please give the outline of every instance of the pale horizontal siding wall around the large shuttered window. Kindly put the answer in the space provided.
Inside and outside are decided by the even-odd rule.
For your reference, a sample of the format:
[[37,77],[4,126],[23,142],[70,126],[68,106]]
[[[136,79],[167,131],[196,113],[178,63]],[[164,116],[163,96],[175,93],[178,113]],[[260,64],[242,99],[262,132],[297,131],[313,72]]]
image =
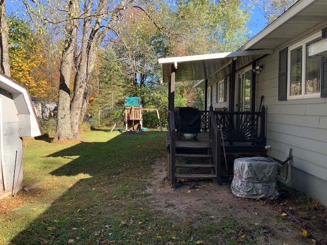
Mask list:
[[271,146],[268,155],[285,161],[287,149],[293,149],[293,159],[289,166],[284,166],[282,173],[284,171],[285,175],[279,179],[327,206],[327,100],[278,101],[279,50],[317,31],[321,31],[320,26],[276,48],[273,55],[258,61],[259,65],[263,65],[263,70],[256,78],[256,107],[259,107],[260,97],[264,95],[267,145]]

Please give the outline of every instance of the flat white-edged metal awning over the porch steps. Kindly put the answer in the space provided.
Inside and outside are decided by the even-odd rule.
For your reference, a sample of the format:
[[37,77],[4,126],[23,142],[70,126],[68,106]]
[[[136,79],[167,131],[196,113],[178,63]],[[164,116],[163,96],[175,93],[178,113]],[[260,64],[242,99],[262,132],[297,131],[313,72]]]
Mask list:
[[[231,63],[237,59],[237,69],[250,64],[263,55],[272,54],[270,49],[195,55],[159,59],[162,64],[162,80],[169,82],[172,66],[177,68],[176,82],[217,80],[231,73]],[[200,85],[200,84],[199,84]]]

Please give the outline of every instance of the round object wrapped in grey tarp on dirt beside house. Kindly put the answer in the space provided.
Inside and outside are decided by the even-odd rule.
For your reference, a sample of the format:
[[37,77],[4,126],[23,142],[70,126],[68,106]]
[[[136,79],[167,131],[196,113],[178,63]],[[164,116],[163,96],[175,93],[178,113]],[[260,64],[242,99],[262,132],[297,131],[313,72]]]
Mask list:
[[277,199],[278,164],[267,157],[243,157],[234,160],[233,194],[242,198]]

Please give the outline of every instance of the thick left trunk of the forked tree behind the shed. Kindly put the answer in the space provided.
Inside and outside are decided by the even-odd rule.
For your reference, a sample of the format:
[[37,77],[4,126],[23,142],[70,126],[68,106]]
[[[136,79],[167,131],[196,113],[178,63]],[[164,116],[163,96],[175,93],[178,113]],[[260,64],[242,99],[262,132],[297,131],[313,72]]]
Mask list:
[[69,16],[66,23],[65,48],[62,52],[60,65],[57,129],[54,141],[73,139],[70,115],[71,90],[69,87],[71,85],[72,64],[74,61],[74,51],[77,40],[78,19],[75,17],[79,13],[78,6],[78,0],[69,1]]

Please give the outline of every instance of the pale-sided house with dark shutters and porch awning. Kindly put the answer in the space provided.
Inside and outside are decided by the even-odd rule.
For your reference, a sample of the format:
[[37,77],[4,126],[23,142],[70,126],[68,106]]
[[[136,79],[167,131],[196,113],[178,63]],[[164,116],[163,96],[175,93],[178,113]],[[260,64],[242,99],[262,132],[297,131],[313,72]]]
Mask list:
[[[163,80],[169,83],[171,112],[175,82],[185,80],[198,81],[196,86],[204,88],[207,102],[204,114],[209,115],[209,123],[218,122],[223,129],[224,121],[219,118],[228,113],[231,119],[239,114],[264,111],[254,128],[262,132],[256,136],[262,139],[259,144],[265,145],[266,155],[280,163],[286,161],[278,180],[309,194],[324,206],[327,206],[326,13],[325,0],[299,0],[237,52],[159,59]],[[228,112],[214,108],[227,108]],[[173,116],[171,113],[170,117]],[[242,117],[239,119],[242,121]],[[248,125],[253,120],[243,121]],[[176,159],[181,157],[174,150],[180,142],[171,141],[173,124],[171,120],[168,137],[171,168],[175,168],[172,164],[178,164]],[[222,142],[217,139],[219,127],[209,127],[210,135],[217,133],[210,136],[209,145],[218,164],[215,169],[219,171],[223,162],[218,156],[222,151],[219,149]],[[226,138],[225,132],[222,134]],[[213,146],[216,141],[218,146]],[[174,183],[176,172],[170,171]]]

